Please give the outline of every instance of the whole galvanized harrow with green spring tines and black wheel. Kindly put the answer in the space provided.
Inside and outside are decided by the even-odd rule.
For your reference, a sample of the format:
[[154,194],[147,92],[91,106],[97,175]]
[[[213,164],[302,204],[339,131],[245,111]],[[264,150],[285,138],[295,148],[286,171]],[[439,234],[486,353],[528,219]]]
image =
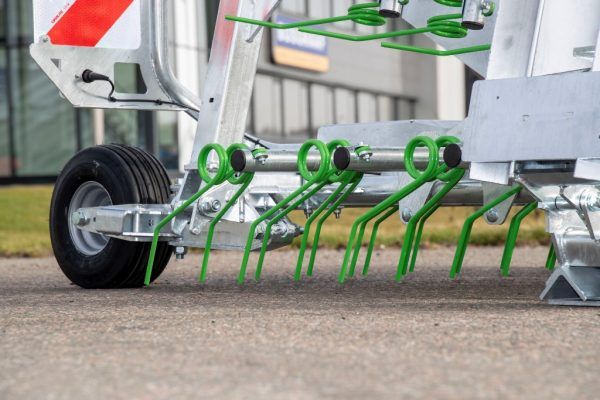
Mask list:
[[[428,218],[440,207],[476,206],[449,260],[451,278],[465,273],[469,237],[480,218],[510,224],[499,266],[507,276],[521,222],[541,209],[552,243],[546,262],[540,260],[552,271],[541,298],[600,305],[600,103],[594,100],[600,95],[600,2],[381,0],[357,2],[330,18],[271,22],[282,1],[220,2],[200,99],[169,67],[164,0],[120,2],[133,14],[132,38],[117,46],[73,40],[69,29],[56,26],[37,32],[31,54],[74,106],[181,111],[197,120],[191,161],[176,185],[156,158],[127,146],[89,148],[65,166],[50,228],[58,263],[73,282],[150,285],[172,253],[182,258],[188,248],[201,248],[200,281],[209,276],[212,249],[238,250],[243,284],[251,274],[260,279],[269,250],[296,237],[301,245],[290,268],[300,280],[318,272],[321,230],[344,207],[367,211],[348,232],[340,283],[368,274],[377,261],[378,228],[388,218],[406,224],[393,273],[401,281],[418,265]],[[44,2],[35,3],[39,17]],[[102,13],[99,7],[94,12]],[[388,28],[395,18],[414,28]],[[381,27],[381,33],[350,35],[334,23]],[[457,56],[485,79],[476,83],[464,121],[323,126],[305,143],[270,143],[244,130],[267,29],[374,41],[382,52]],[[427,35],[438,46],[393,40],[409,35]],[[139,65],[144,93],[115,90],[118,63]],[[515,206],[521,208],[508,222]],[[288,218],[295,210],[307,214],[303,227]]]

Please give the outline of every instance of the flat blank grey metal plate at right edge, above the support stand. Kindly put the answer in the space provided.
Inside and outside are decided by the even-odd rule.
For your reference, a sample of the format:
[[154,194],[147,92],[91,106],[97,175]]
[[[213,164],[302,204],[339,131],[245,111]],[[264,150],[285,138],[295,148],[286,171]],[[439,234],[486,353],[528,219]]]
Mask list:
[[464,126],[464,160],[600,156],[600,73],[478,82]]

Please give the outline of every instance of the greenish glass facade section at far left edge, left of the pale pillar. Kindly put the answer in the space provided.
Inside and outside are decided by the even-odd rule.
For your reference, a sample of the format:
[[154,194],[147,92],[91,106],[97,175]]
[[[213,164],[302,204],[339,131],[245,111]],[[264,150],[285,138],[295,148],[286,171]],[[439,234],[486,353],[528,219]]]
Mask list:
[[[32,3],[0,0],[0,177],[54,176],[91,129],[29,56]],[[89,118],[87,118],[89,119]]]

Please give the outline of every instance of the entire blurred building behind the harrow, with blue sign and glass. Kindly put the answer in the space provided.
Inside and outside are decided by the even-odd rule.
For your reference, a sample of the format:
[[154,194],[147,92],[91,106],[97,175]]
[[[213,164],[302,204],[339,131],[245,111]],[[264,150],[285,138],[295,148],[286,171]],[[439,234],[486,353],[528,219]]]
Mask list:
[[[284,0],[276,18],[344,15],[354,3]],[[219,1],[169,4],[171,61],[179,79],[199,93]],[[29,56],[32,16],[31,0],[0,0],[0,184],[51,181],[75,152],[98,143],[140,146],[174,174],[180,171],[189,161],[195,121],[184,113],[74,109]],[[404,26],[398,20],[387,29]],[[334,29],[369,34],[383,28],[346,22]],[[248,121],[253,135],[300,142],[327,124],[465,116],[472,76],[454,58],[289,35],[266,33]],[[399,40],[433,46],[423,36]],[[135,70],[121,75],[136,85]]]

